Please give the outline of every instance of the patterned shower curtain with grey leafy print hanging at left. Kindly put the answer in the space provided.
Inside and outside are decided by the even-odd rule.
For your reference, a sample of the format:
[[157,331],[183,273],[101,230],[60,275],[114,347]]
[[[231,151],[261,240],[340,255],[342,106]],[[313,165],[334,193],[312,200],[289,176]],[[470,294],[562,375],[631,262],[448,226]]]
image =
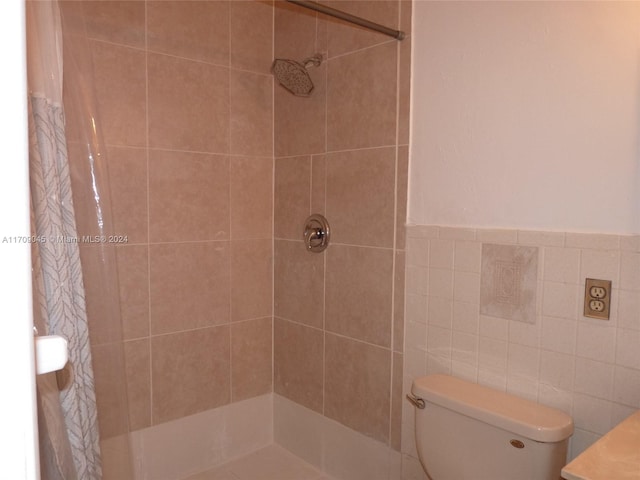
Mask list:
[[[62,33],[55,1],[27,1],[29,174],[34,318],[69,342],[67,375],[39,376],[43,480],[102,477],[87,313],[62,109]],[[43,331],[44,330],[44,331]]]

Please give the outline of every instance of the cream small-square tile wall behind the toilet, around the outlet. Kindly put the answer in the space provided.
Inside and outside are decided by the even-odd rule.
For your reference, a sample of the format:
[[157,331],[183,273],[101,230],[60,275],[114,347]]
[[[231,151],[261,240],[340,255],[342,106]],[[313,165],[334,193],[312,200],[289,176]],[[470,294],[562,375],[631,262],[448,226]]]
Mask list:
[[[535,323],[481,315],[483,244],[537,247]],[[611,280],[611,318],[583,315],[585,278]],[[446,373],[570,414],[575,457],[640,408],[638,236],[407,228],[404,387]],[[403,404],[403,478],[424,479]]]

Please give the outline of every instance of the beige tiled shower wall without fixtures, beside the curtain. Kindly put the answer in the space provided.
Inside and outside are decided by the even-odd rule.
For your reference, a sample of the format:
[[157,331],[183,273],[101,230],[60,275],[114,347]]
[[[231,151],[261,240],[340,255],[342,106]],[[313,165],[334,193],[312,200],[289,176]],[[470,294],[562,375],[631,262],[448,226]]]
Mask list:
[[[87,1],[64,12],[95,80],[67,81],[67,98],[95,93],[103,207],[127,236],[109,253],[124,345],[100,282],[104,250],[82,248],[102,437],[271,392],[272,3]],[[69,117],[81,170],[86,147]],[[80,234],[93,233],[90,192],[76,196]],[[129,425],[118,416],[122,351]]]

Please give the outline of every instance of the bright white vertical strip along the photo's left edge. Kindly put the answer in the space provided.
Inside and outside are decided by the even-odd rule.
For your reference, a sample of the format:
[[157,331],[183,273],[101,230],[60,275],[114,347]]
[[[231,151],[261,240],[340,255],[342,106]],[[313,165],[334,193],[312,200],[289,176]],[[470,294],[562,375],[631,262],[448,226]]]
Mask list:
[[0,6],[0,479],[37,480],[23,1]]

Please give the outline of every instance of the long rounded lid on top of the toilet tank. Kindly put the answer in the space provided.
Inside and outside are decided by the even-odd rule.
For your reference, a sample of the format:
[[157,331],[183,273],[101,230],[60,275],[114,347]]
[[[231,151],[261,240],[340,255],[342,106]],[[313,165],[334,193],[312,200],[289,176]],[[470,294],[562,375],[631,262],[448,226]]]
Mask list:
[[411,391],[425,402],[537,442],[560,442],[573,433],[573,420],[560,410],[449,375],[416,378]]

